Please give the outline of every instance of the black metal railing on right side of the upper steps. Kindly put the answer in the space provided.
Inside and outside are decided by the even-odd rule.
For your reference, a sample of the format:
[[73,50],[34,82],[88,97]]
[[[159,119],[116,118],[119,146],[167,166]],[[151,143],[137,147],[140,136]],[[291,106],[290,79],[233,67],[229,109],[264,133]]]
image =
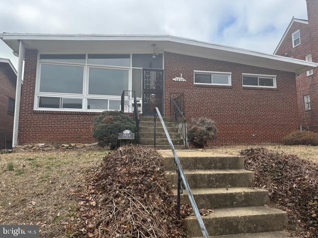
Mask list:
[[184,146],[187,149],[187,124],[185,119],[184,94],[181,94],[176,98],[170,97],[170,117],[174,118],[174,122],[182,136]]

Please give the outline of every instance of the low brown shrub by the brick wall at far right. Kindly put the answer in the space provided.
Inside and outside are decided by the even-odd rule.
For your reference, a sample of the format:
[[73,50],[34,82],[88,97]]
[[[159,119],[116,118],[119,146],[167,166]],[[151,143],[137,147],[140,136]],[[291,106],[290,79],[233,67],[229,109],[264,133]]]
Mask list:
[[285,145],[318,145],[318,133],[312,131],[294,131],[283,138]]

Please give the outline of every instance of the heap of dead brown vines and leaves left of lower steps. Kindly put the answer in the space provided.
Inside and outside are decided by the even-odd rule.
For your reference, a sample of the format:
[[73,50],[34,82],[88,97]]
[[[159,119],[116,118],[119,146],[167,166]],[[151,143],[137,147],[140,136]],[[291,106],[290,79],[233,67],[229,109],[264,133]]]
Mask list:
[[160,164],[157,151],[141,146],[120,147],[106,156],[87,176],[73,230],[91,238],[183,237]]

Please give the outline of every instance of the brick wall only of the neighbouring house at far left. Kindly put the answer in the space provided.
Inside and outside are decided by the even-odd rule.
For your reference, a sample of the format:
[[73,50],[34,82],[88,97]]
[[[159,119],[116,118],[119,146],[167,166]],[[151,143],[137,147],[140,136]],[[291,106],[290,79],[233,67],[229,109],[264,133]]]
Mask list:
[[4,149],[4,133],[7,133],[6,139],[12,141],[14,116],[8,114],[9,97],[15,99],[15,86],[0,63],[0,149]]

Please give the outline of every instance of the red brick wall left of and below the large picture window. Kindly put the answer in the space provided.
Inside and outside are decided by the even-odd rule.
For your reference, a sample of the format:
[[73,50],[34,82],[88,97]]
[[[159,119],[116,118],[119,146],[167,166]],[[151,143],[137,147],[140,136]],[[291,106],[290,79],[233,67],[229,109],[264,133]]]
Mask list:
[[31,142],[93,142],[96,113],[35,112],[34,92],[37,51],[26,49],[21,95],[19,144]]

